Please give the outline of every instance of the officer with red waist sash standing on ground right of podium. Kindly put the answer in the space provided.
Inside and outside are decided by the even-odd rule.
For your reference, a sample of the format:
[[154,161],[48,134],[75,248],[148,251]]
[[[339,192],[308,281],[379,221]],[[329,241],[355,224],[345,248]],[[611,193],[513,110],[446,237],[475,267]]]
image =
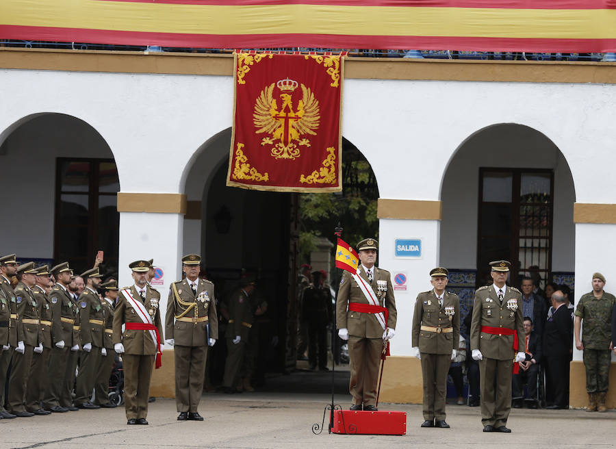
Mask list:
[[509,261],[490,262],[490,266],[493,284],[475,292],[470,344],[473,359],[479,361],[483,431],[510,433],[506,424],[513,366],[526,359],[524,350],[519,350],[520,342],[526,341],[522,294],[505,285]]

